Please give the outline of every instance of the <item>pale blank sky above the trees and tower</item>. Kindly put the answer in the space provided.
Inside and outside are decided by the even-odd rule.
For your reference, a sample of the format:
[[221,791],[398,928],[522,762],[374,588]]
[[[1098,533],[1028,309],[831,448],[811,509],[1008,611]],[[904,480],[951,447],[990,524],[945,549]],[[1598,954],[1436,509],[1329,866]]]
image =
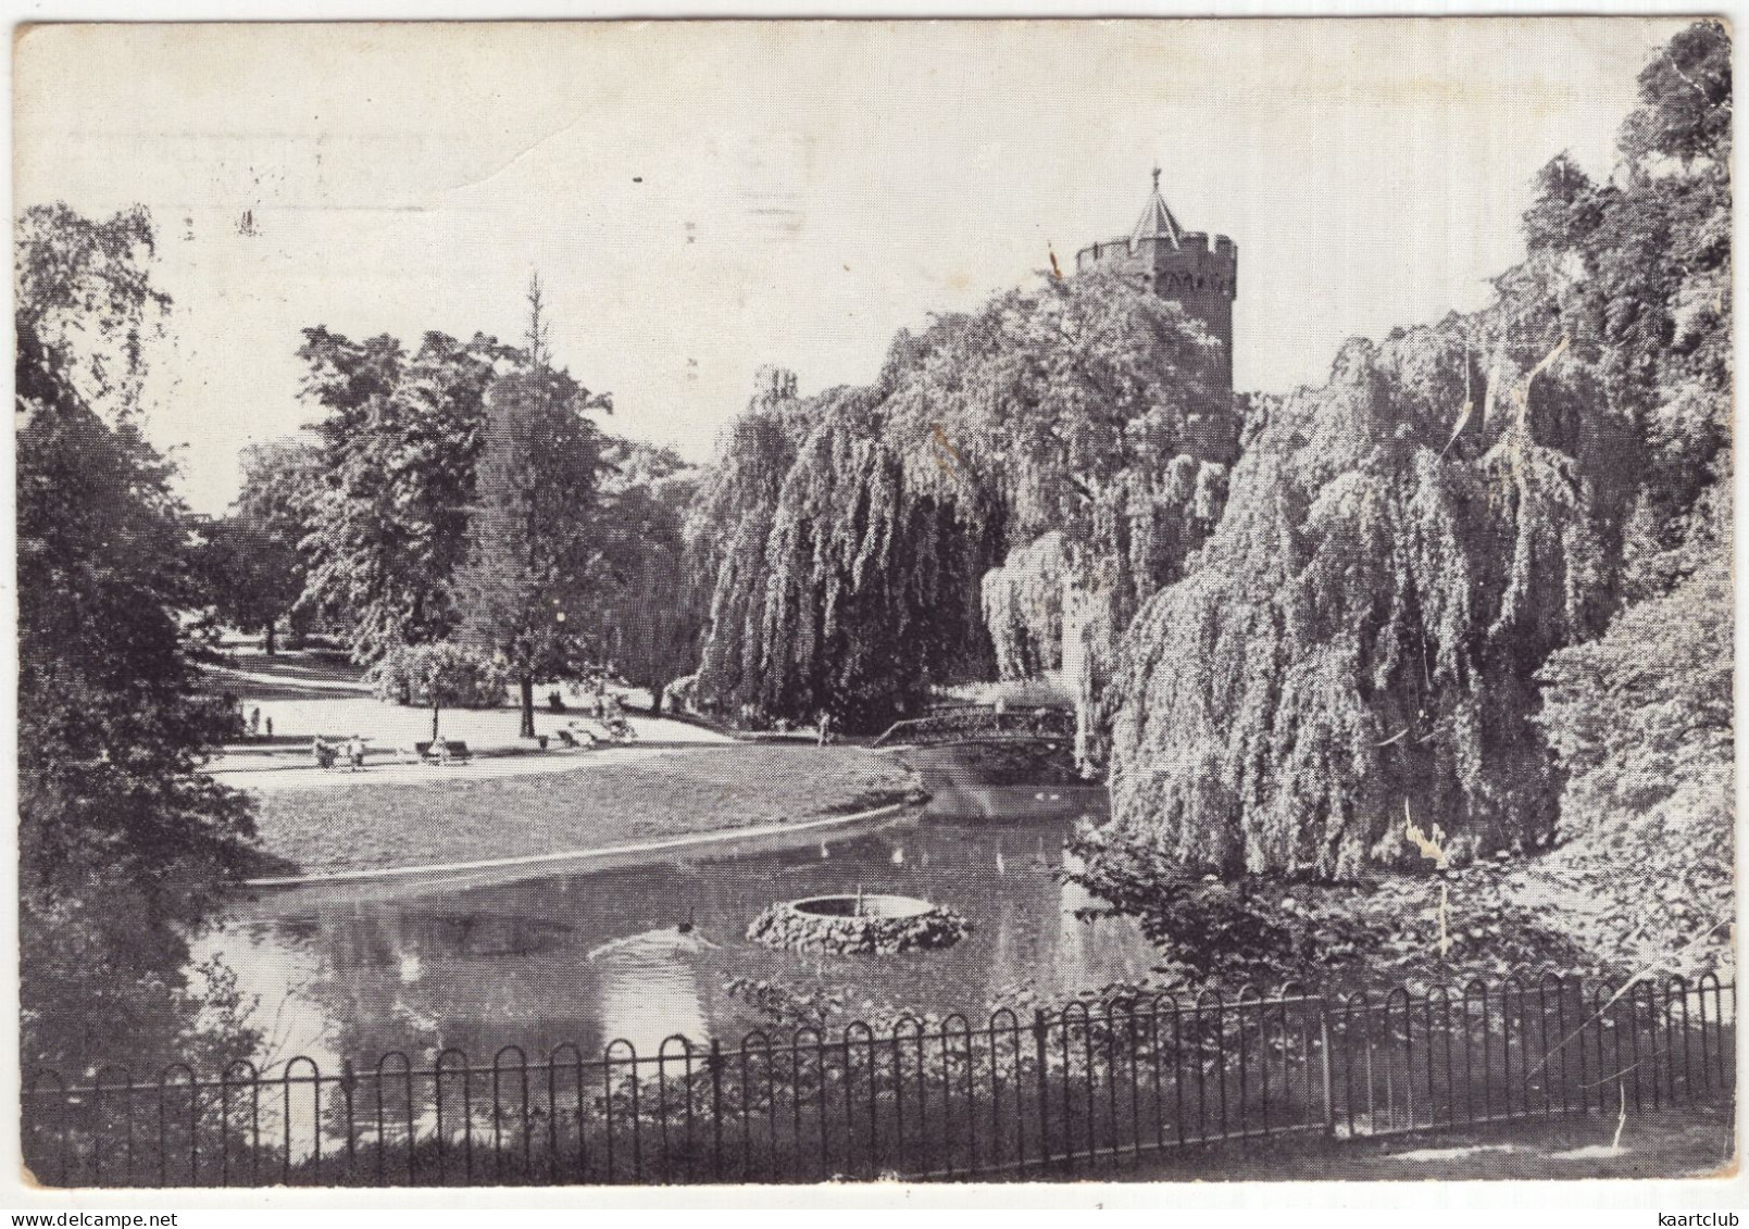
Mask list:
[[308,421],[299,329],[512,339],[532,269],[609,428],[707,460],[757,365],[873,378],[897,329],[1126,233],[1156,161],[1238,245],[1237,385],[1320,381],[1478,306],[1536,170],[1607,170],[1681,24],[49,26],[16,201],[152,210],[150,430],[201,510]]

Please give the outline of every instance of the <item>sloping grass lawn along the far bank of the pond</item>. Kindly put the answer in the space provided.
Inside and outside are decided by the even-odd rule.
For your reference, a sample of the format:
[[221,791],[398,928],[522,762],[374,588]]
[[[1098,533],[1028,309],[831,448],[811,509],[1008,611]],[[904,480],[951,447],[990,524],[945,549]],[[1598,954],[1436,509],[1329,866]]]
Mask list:
[[362,871],[784,823],[918,792],[908,767],[855,746],[701,746],[542,776],[262,794],[257,827],[304,872]]

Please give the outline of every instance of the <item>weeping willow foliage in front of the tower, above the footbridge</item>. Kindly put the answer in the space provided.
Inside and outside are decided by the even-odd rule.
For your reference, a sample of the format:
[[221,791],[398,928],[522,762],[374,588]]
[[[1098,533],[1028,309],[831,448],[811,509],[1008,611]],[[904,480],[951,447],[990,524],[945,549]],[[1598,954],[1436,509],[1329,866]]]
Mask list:
[[731,427],[693,519],[698,694],[852,729],[950,678],[1065,670],[1091,698],[1219,516],[1238,430],[1216,343],[1112,274],[901,334],[866,388],[792,392]]

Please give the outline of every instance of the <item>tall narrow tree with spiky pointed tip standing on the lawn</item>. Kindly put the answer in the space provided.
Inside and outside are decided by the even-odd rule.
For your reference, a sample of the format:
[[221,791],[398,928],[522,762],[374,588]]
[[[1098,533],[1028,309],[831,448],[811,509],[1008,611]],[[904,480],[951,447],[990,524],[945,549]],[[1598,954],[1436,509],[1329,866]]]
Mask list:
[[610,409],[547,362],[540,281],[528,288],[528,365],[486,397],[467,565],[456,579],[465,635],[518,682],[521,736],[535,736],[533,684],[579,673],[589,650],[584,610],[602,584],[595,523],[602,435]]

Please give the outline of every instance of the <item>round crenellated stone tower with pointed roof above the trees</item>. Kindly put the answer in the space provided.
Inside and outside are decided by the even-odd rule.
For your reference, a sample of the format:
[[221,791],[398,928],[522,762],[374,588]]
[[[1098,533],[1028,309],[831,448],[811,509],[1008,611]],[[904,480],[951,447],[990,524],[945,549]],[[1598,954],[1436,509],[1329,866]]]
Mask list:
[[1160,196],[1160,168],[1142,219],[1128,236],[1076,252],[1076,271],[1118,267],[1146,276],[1154,294],[1202,320],[1221,343],[1226,390],[1233,390],[1233,299],[1238,295],[1238,248],[1224,234],[1186,231]]

